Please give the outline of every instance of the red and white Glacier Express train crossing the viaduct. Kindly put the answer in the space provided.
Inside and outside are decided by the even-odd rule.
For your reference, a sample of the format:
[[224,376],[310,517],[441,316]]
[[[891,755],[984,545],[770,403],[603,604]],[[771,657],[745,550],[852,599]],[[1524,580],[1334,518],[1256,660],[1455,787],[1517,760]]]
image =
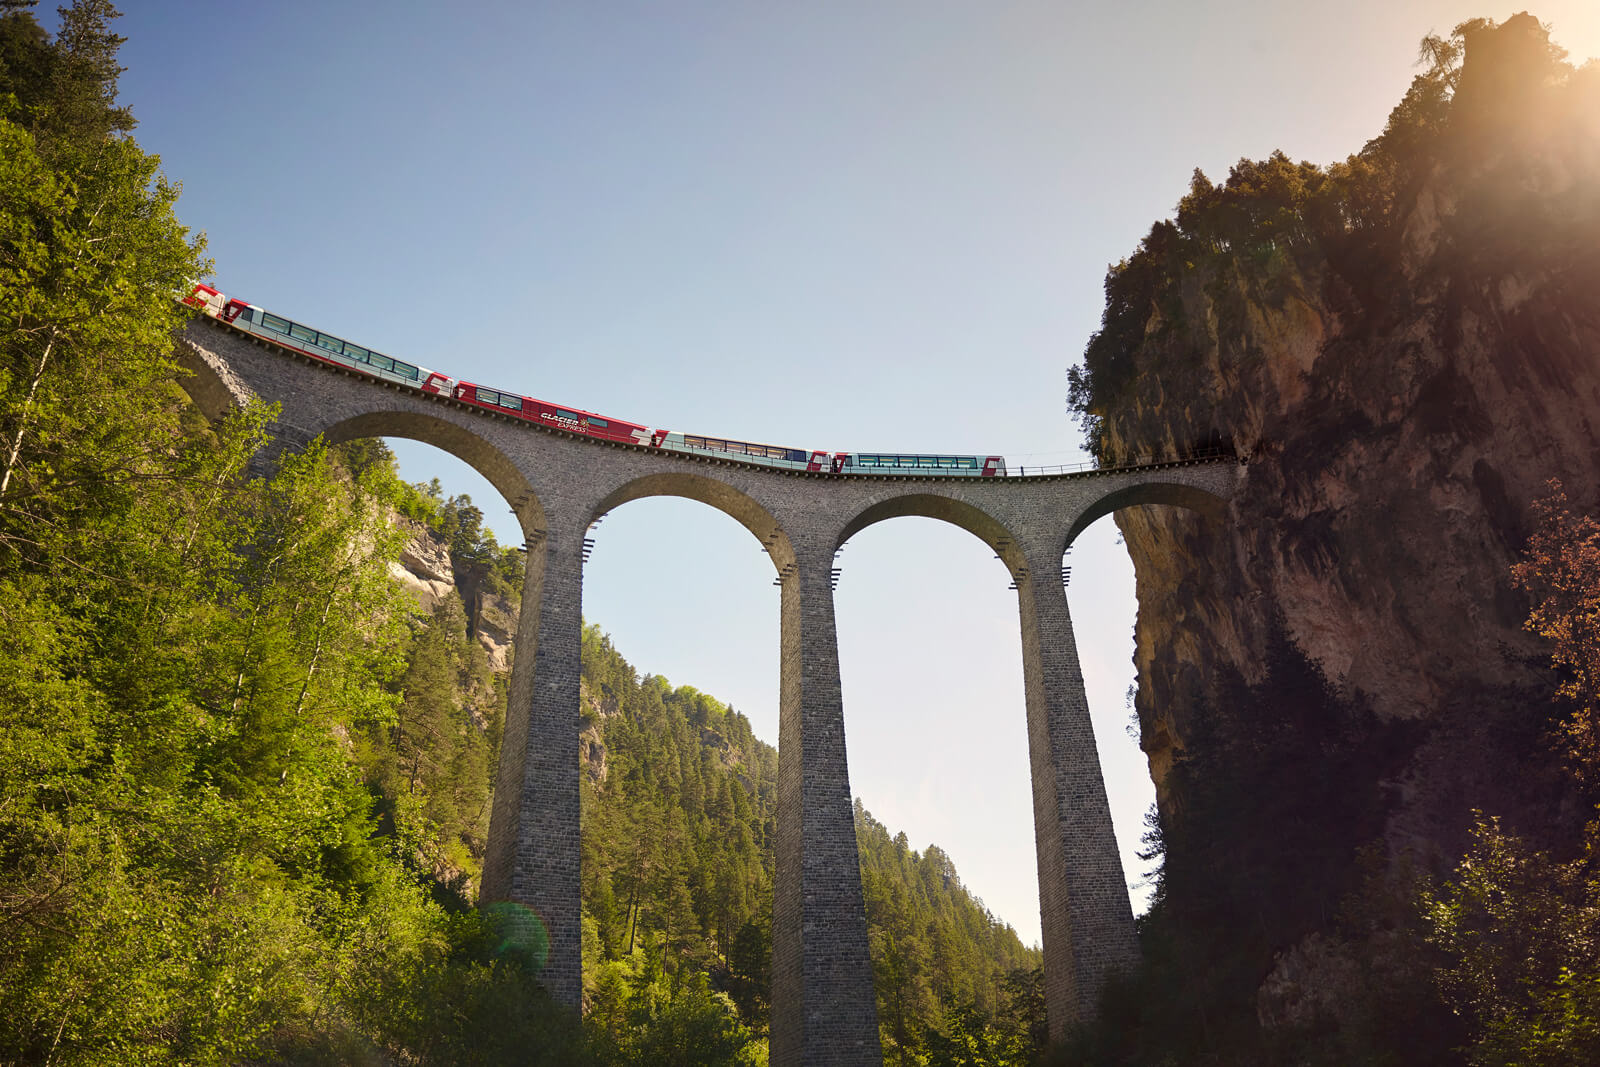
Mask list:
[[638,422],[626,422],[579,408],[547,403],[506,389],[458,381],[448,374],[430,371],[426,366],[397,360],[382,352],[374,352],[330,333],[283,318],[282,315],[274,315],[254,304],[229,298],[226,293],[203,282],[197,282],[182,296],[182,302],[211,318],[226,322],[274,344],[294,349],[314,360],[371,374],[373,378],[392,381],[400,386],[410,386],[427,394],[450,397],[461,403],[525,419],[546,429],[584,434],[605,442],[827,474],[926,474],[984,478],[1005,475],[1005,459],[1002,456],[827,453],[784,448],[779,445],[757,445],[755,442],[734,442],[701,434],[680,434],[677,430],[651,430]]

